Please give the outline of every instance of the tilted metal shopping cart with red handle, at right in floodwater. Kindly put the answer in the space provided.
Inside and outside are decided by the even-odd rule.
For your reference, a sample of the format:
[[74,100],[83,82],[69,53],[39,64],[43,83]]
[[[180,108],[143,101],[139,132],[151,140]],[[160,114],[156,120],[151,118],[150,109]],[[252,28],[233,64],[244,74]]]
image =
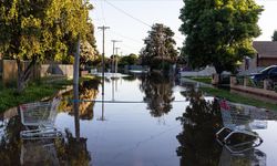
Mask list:
[[[245,151],[248,151],[249,148],[259,146],[263,143],[261,137],[256,132],[252,131],[252,129],[255,129],[255,125],[252,124],[255,121],[254,118],[252,118],[249,112],[246,113],[246,112],[233,108],[229,105],[229,103],[225,100],[222,100],[219,104],[220,104],[220,113],[222,113],[224,127],[222,127],[216,133],[216,138],[222,145],[225,145],[225,147],[230,153],[243,153]],[[227,134],[224,134],[224,133],[227,133]],[[243,134],[243,135],[252,136],[254,137],[254,139],[245,141],[245,142],[232,145],[230,138],[234,134]],[[219,137],[222,135],[223,135],[223,138],[220,139]],[[258,143],[256,143],[255,141],[258,141]],[[250,145],[250,147],[246,145]],[[244,148],[239,148],[239,147],[244,147]]]

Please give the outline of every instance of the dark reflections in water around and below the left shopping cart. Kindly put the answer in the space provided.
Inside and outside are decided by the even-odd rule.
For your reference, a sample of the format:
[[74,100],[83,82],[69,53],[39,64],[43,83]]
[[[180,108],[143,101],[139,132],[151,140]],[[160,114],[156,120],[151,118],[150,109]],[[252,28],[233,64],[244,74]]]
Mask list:
[[[0,144],[0,165],[17,166],[22,159],[23,165],[90,165],[91,155],[86,148],[86,138],[76,138],[65,131],[60,139],[21,141],[20,131],[23,126],[20,116],[12,117],[3,132]],[[50,148],[53,145],[52,148]]]

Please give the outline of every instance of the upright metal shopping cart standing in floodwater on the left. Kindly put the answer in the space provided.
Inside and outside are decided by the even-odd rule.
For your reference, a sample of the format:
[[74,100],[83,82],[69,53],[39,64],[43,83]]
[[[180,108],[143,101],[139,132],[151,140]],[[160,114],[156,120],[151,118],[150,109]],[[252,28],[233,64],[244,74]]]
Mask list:
[[62,137],[62,132],[54,126],[60,100],[35,102],[20,105],[21,123],[25,131],[20,132],[21,138]]

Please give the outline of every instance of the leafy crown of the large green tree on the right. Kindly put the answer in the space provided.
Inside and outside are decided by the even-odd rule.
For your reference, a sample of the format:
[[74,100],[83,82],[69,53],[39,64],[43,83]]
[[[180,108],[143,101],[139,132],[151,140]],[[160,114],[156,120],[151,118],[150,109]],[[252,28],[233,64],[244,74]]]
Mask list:
[[184,0],[179,31],[186,35],[182,55],[193,68],[214,65],[235,71],[237,61],[254,55],[253,38],[263,9],[254,0]]

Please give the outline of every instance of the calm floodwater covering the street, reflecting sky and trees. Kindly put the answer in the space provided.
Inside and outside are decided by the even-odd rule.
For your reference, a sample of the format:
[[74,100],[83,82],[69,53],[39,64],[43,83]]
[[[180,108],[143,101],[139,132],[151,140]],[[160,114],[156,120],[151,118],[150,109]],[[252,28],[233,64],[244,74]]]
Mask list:
[[[196,90],[195,90],[196,89]],[[218,103],[192,83],[160,75],[106,77],[62,94],[55,125],[64,136],[22,141],[18,108],[1,115],[1,165],[230,166],[277,163],[275,112],[250,108],[266,123],[264,142],[234,155],[215,139],[223,122]],[[95,101],[95,102],[92,102]],[[102,102],[104,101],[104,102]],[[244,106],[242,106],[244,108]],[[79,110],[79,112],[74,112]],[[76,117],[76,118],[75,118]]]

